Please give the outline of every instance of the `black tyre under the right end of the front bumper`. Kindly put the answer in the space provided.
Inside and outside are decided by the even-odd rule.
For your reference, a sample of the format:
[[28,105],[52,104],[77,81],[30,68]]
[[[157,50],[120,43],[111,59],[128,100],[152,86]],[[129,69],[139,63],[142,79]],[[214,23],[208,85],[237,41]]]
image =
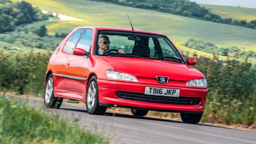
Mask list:
[[184,123],[197,124],[200,122],[202,115],[203,114],[181,113],[181,119]]

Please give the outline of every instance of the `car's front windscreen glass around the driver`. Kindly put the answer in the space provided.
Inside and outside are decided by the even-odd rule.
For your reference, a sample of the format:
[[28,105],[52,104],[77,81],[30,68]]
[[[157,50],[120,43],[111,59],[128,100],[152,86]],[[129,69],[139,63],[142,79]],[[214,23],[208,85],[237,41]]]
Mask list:
[[[101,54],[96,51],[98,55],[142,57],[184,63],[178,50],[165,36],[126,31],[99,31],[98,37],[101,36],[109,39],[109,50]],[[120,49],[123,50],[122,54],[118,53]]]

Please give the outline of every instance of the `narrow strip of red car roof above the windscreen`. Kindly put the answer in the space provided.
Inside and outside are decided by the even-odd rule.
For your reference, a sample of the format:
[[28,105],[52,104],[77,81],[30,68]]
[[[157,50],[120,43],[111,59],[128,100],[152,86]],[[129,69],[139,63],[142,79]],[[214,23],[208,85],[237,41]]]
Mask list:
[[[135,32],[135,33],[146,33],[146,34],[156,34],[165,36],[165,34],[162,33],[156,33],[153,31],[144,31],[144,30],[132,30],[132,28],[117,28],[117,27],[99,27],[99,26],[84,26],[84,27],[78,27],[78,28],[91,28],[93,30],[113,30],[113,31],[126,31],[126,32]],[[77,28],[77,29],[78,29]]]

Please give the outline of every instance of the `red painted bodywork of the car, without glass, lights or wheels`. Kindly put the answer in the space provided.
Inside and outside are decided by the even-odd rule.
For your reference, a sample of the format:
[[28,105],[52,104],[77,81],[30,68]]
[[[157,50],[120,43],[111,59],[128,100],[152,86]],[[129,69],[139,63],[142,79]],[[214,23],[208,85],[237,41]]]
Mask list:
[[[203,112],[205,108],[206,95],[208,90],[203,87],[188,87],[185,84],[189,80],[205,78],[201,72],[188,66],[187,63],[174,63],[170,61],[159,61],[153,59],[130,58],[130,57],[100,57],[95,55],[95,37],[97,30],[120,30],[132,31],[123,28],[109,28],[109,27],[80,27],[91,28],[94,30],[94,39],[92,39],[91,54],[89,58],[80,55],[69,55],[63,53],[63,47],[66,41],[74,33],[73,30],[60,43],[56,51],[50,58],[48,69],[46,70],[46,78],[50,73],[71,75],[72,77],[87,78],[87,81],[78,81],[72,79],[65,79],[62,77],[54,77],[54,96],[77,99],[79,101],[86,101],[86,89],[89,78],[92,75],[97,77],[99,102],[104,104],[114,104],[126,107],[142,107],[156,110],[170,110],[170,111],[193,111]],[[134,30],[139,33],[157,34],[165,36],[164,34],[153,33],[149,31]],[[77,49],[77,52],[82,54],[84,51]],[[195,64],[196,59],[191,58],[189,63]],[[137,78],[137,82],[109,80],[106,77],[106,69],[116,70],[118,72],[125,72],[132,74]],[[156,76],[169,77],[167,84],[159,84],[156,81]],[[116,96],[117,90],[125,92],[144,93],[144,87],[163,87],[170,89],[180,89],[180,97],[194,97],[202,98],[198,105],[178,105],[178,104],[156,104],[152,102],[132,101],[127,99],[120,99]]]

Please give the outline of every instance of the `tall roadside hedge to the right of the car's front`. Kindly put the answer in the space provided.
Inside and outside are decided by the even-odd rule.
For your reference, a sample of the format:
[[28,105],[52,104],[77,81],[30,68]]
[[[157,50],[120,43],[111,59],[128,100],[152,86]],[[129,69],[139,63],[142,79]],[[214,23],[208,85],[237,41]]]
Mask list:
[[[198,58],[196,67],[208,81],[203,121],[256,124],[256,67],[244,61]],[[215,116],[215,118],[211,117]],[[216,118],[217,117],[217,118]]]

